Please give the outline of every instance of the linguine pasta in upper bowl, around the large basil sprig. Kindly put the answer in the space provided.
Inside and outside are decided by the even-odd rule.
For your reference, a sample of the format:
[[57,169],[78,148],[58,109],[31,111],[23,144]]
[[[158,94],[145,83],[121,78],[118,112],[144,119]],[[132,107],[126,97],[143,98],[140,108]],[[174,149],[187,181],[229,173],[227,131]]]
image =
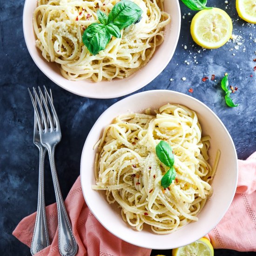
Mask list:
[[163,0],[132,0],[143,11],[141,20],[121,30],[120,39],[112,37],[99,54],[90,54],[82,42],[83,31],[98,20],[97,10],[108,15],[118,1],[39,0],[33,26],[43,57],[60,64],[61,74],[69,80],[126,78],[147,64],[170,22]]

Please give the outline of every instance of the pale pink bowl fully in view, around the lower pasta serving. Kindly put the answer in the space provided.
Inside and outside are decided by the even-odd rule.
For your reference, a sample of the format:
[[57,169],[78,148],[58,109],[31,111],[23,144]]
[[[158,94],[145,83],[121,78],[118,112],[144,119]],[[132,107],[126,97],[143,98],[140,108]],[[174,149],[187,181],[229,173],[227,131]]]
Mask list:
[[[94,158],[96,150],[93,147],[101,137],[103,129],[116,116],[127,112],[141,112],[149,107],[152,109],[159,108],[166,103],[182,104],[195,110],[199,122],[202,125],[203,135],[211,136],[211,146],[209,149],[209,161],[211,165],[213,165],[217,149],[221,150],[221,156],[216,175],[212,182],[213,195],[198,215],[199,220],[197,222],[190,222],[187,226],[178,229],[174,233],[157,235],[151,229],[135,231],[129,227],[122,220],[121,210],[108,204],[105,193],[91,188],[95,184]],[[238,163],[236,148],[229,132],[210,108],[201,101],[182,93],[168,90],[154,90],[134,94],[118,101],[99,117],[85,141],[81,155],[80,173],[85,201],[94,216],[108,231],[128,243],[141,247],[172,249],[200,239],[220,222],[229,209],[229,205],[235,195]]]

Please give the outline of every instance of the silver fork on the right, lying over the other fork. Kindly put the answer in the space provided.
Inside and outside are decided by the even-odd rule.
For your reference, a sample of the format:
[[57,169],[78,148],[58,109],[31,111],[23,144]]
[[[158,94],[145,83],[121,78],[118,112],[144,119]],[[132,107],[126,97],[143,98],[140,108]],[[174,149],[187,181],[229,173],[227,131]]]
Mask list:
[[[61,127],[60,127],[57,113],[54,108],[53,101],[50,95],[48,94],[45,86],[44,86],[44,89],[45,89],[46,97],[44,97],[41,89],[39,88],[39,94],[43,104],[41,104],[40,98],[35,88],[33,88],[35,98],[31,94],[29,89],[28,91],[29,91],[29,94],[33,103],[33,107],[35,110],[35,114],[37,117],[40,141],[42,145],[47,148],[49,160],[50,160],[50,166],[52,170],[54,191],[55,191],[57,211],[58,211],[59,252],[61,256],[74,256],[77,253],[77,244],[75,242],[74,235],[72,233],[72,227],[71,227],[69,218],[67,216],[67,210],[65,208],[65,204],[61,195],[60,184],[58,181],[55,162],[54,162],[54,149],[56,145],[61,141]],[[37,105],[40,108],[42,119],[40,119]]]

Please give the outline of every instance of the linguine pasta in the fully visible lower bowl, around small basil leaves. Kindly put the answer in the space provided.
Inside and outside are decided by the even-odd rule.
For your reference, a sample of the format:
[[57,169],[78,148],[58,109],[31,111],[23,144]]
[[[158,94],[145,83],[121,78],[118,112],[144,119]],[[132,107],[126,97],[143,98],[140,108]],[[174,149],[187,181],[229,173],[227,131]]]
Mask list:
[[[125,222],[137,230],[144,223],[157,234],[168,234],[191,221],[212,194],[220,152],[211,168],[207,162],[209,136],[202,137],[194,111],[167,104],[146,114],[124,114],[108,125],[97,143],[96,185],[106,190],[108,202],[117,202]],[[167,141],[175,155],[176,178],[168,187],[161,179],[168,171],[156,156],[155,146]]]

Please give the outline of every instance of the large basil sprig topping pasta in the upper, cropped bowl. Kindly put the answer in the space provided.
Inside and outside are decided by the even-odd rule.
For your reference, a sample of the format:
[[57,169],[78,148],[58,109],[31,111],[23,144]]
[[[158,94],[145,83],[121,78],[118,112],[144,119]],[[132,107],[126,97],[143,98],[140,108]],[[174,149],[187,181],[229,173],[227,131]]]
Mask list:
[[93,55],[104,50],[112,35],[121,38],[120,30],[140,19],[141,8],[130,0],[116,3],[108,16],[101,10],[97,11],[99,23],[92,23],[82,35],[84,45]]

